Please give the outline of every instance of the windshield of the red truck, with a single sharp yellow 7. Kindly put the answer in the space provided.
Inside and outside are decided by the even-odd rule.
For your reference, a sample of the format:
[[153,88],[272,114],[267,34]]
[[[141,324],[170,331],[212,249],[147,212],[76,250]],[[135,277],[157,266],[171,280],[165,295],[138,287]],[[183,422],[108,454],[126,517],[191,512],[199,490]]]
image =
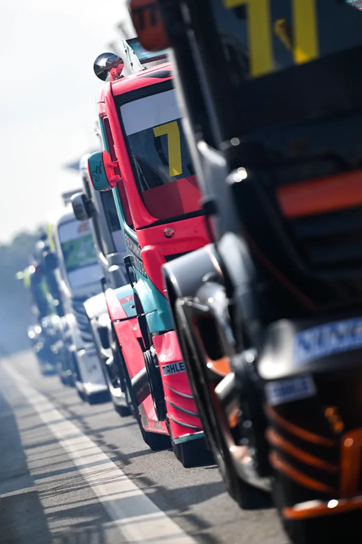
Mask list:
[[162,220],[197,211],[200,193],[175,91],[123,102],[118,114],[148,212]]

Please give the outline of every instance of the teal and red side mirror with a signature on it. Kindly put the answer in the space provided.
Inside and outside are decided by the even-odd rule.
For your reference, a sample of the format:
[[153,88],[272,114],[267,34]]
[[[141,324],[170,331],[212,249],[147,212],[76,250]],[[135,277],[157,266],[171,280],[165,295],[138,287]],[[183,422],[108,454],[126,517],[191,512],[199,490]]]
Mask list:
[[110,158],[108,151],[96,151],[88,157],[89,177],[97,191],[113,189],[121,180],[118,162]]

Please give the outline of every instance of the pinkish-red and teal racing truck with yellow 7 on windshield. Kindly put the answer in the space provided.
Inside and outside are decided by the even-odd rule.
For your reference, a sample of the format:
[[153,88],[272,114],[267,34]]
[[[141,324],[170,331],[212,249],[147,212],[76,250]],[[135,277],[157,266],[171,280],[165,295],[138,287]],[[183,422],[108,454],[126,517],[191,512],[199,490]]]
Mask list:
[[[128,255],[130,284],[111,314],[124,376],[143,437],[171,444],[184,466],[212,461],[185,373],[161,265],[209,241],[199,189],[180,125],[171,65],[137,39],[123,59],[99,55],[106,81],[98,99],[104,151],[88,158],[97,190],[112,190]],[[117,299],[115,298],[114,304]],[[118,301],[117,301],[118,302]],[[136,318],[136,319],[134,319]]]

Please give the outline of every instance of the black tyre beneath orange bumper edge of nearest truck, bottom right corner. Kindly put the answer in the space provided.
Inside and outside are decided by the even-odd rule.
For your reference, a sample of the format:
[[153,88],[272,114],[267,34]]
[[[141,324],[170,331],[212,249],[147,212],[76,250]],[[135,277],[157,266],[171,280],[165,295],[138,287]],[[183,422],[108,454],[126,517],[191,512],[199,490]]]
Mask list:
[[276,475],[273,489],[274,503],[286,534],[293,544],[340,544],[345,542],[362,542],[361,511],[356,510],[345,514],[329,515],[310,520],[285,520],[283,508],[287,505],[284,496],[283,482]]

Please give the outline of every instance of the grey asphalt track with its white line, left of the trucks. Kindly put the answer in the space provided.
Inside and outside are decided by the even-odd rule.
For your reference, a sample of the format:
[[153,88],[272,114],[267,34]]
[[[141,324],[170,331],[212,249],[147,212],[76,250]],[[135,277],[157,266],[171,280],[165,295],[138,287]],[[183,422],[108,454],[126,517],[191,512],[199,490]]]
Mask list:
[[24,352],[0,362],[1,544],[287,544],[214,466],[153,453],[132,417],[90,406]]

